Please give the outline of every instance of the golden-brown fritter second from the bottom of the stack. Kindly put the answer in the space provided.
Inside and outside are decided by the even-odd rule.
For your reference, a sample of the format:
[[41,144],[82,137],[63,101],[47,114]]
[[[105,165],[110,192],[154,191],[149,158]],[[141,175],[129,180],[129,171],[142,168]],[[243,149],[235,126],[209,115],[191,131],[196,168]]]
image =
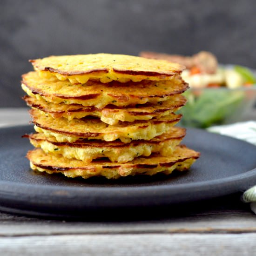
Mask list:
[[130,143],[123,143],[119,140],[57,142],[56,140],[50,141],[42,133],[31,134],[28,137],[34,147],[42,148],[46,153],[61,154],[66,158],[75,158],[89,163],[102,157],[107,157],[111,162],[128,162],[141,155],[149,156],[151,153],[171,155],[185,134],[184,128],[173,127],[150,141],[137,140]]

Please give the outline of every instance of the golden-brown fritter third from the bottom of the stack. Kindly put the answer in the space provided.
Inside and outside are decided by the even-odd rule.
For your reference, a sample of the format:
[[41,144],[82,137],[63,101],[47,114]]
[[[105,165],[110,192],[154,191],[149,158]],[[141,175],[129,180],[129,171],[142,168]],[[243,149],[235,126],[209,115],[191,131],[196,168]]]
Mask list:
[[161,119],[148,121],[121,122],[116,126],[108,125],[99,118],[85,117],[68,121],[66,118],[53,118],[40,110],[31,109],[30,115],[35,130],[59,142],[74,142],[82,139],[115,141],[128,143],[132,140],[151,140],[173,127],[182,115],[171,114]]

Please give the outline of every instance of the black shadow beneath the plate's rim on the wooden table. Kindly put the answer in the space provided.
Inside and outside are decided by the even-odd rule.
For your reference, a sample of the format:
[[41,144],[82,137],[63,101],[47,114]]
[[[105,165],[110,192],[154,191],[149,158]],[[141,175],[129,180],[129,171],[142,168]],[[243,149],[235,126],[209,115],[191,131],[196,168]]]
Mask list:
[[171,206],[113,208],[106,210],[90,210],[84,212],[65,212],[65,214],[47,214],[14,212],[13,209],[2,211],[18,216],[27,216],[47,220],[90,221],[90,222],[133,222],[159,221],[191,216],[231,215],[251,212],[249,204],[241,201],[241,193],[226,195],[215,199],[202,200],[193,203],[172,204]]

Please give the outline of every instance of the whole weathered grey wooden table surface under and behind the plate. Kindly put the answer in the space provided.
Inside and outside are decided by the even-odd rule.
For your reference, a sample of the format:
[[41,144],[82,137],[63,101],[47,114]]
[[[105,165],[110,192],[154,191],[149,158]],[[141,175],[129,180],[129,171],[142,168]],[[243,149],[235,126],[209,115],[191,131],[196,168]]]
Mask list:
[[[0,126],[28,121],[26,109],[0,109]],[[256,216],[240,196],[80,220],[0,212],[0,255],[256,255]]]

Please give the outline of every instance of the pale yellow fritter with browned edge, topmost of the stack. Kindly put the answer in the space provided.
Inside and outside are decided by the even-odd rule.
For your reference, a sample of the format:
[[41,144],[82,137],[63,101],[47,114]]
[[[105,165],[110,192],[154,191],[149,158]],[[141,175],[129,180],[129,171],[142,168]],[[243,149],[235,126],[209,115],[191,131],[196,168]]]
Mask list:
[[185,68],[177,63],[123,54],[50,56],[31,62],[40,75],[46,78],[54,75],[59,80],[69,80],[71,83],[86,83],[92,79],[103,83],[112,80],[168,80]]

